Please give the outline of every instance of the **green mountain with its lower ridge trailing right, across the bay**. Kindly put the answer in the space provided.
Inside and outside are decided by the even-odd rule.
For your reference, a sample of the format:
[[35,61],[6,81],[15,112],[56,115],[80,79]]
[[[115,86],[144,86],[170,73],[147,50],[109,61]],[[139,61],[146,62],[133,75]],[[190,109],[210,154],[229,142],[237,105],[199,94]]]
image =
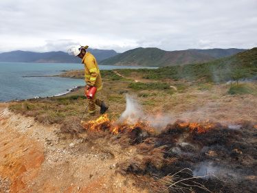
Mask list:
[[131,49],[122,54],[107,58],[100,65],[131,66],[174,66],[194,63],[205,63],[217,58],[232,56],[245,49],[187,49],[165,51],[155,47]]

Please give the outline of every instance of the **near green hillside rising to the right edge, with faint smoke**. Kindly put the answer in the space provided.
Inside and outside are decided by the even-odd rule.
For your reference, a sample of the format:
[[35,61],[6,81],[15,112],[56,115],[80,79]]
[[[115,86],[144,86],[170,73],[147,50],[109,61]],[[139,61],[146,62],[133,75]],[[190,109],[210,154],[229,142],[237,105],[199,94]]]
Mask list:
[[257,77],[257,47],[234,56],[194,65],[159,67],[159,69],[120,69],[120,73],[141,73],[148,79],[172,79],[203,82],[225,82]]

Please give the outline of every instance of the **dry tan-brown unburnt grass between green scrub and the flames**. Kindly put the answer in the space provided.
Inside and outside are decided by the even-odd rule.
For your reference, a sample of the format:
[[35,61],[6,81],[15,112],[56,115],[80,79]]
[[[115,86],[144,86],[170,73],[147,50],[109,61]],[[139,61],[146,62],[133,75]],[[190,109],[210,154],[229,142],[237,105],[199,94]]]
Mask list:
[[[107,73],[106,71],[105,73]],[[69,73],[69,72],[67,72]],[[75,76],[75,71],[70,72]],[[80,72],[77,74],[80,76]],[[118,119],[125,109],[126,101],[124,93],[137,95],[137,100],[143,105],[144,111],[149,114],[164,113],[172,120],[221,122],[233,124],[247,120],[255,122],[257,120],[257,95],[243,94],[230,95],[230,84],[212,84],[199,82],[185,82],[184,80],[172,81],[161,80],[166,84],[175,86],[175,89],[164,89],[149,87],[148,89],[134,90],[129,88],[133,78],[131,76],[113,80],[113,73],[106,74],[104,78],[104,89],[98,94],[99,98],[109,104],[109,117],[111,120]],[[144,78],[139,74],[133,74],[140,81]],[[147,84],[155,80],[146,80]],[[245,82],[249,88],[256,88],[255,82]],[[77,100],[72,97],[80,96]],[[12,111],[22,113],[27,116],[34,116],[39,122],[45,124],[60,123],[66,117],[82,115],[87,105],[87,100],[82,99],[84,90],[79,89],[74,93],[69,93],[64,97],[28,100],[10,105]],[[98,107],[97,107],[98,108]],[[98,113],[96,117],[98,117]],[[95,118],[95,117],[92,117]],[[85,116],[85,120],[91,117]]]

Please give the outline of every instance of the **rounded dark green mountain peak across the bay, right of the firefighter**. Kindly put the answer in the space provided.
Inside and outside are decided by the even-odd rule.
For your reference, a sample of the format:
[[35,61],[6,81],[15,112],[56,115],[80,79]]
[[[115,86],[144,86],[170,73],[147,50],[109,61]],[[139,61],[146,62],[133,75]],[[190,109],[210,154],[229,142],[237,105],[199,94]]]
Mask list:
[[201,63],[213,60],[212,56],[181,50],[168,52],[158,48],[136,48],[117,56],[103,60],[100,65],[140,65],[140,66],[170,66],[187,63]]

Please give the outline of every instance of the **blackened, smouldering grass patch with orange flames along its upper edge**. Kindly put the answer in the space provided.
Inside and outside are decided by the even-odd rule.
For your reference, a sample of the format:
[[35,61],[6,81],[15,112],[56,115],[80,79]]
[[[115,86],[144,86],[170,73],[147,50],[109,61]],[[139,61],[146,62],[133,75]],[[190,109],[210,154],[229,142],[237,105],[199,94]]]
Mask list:
[[103,115],[82,126],[87,132],[109,133],[125,149],[134,146],[137,153],[118,163],[117,172],[149,192],[257,190],[244,177],[257,175],[257,143],[249,140],[256,135],[253,125],[236,130],[212,122],[177,121],[157,134],[147,122],[116,124]]

